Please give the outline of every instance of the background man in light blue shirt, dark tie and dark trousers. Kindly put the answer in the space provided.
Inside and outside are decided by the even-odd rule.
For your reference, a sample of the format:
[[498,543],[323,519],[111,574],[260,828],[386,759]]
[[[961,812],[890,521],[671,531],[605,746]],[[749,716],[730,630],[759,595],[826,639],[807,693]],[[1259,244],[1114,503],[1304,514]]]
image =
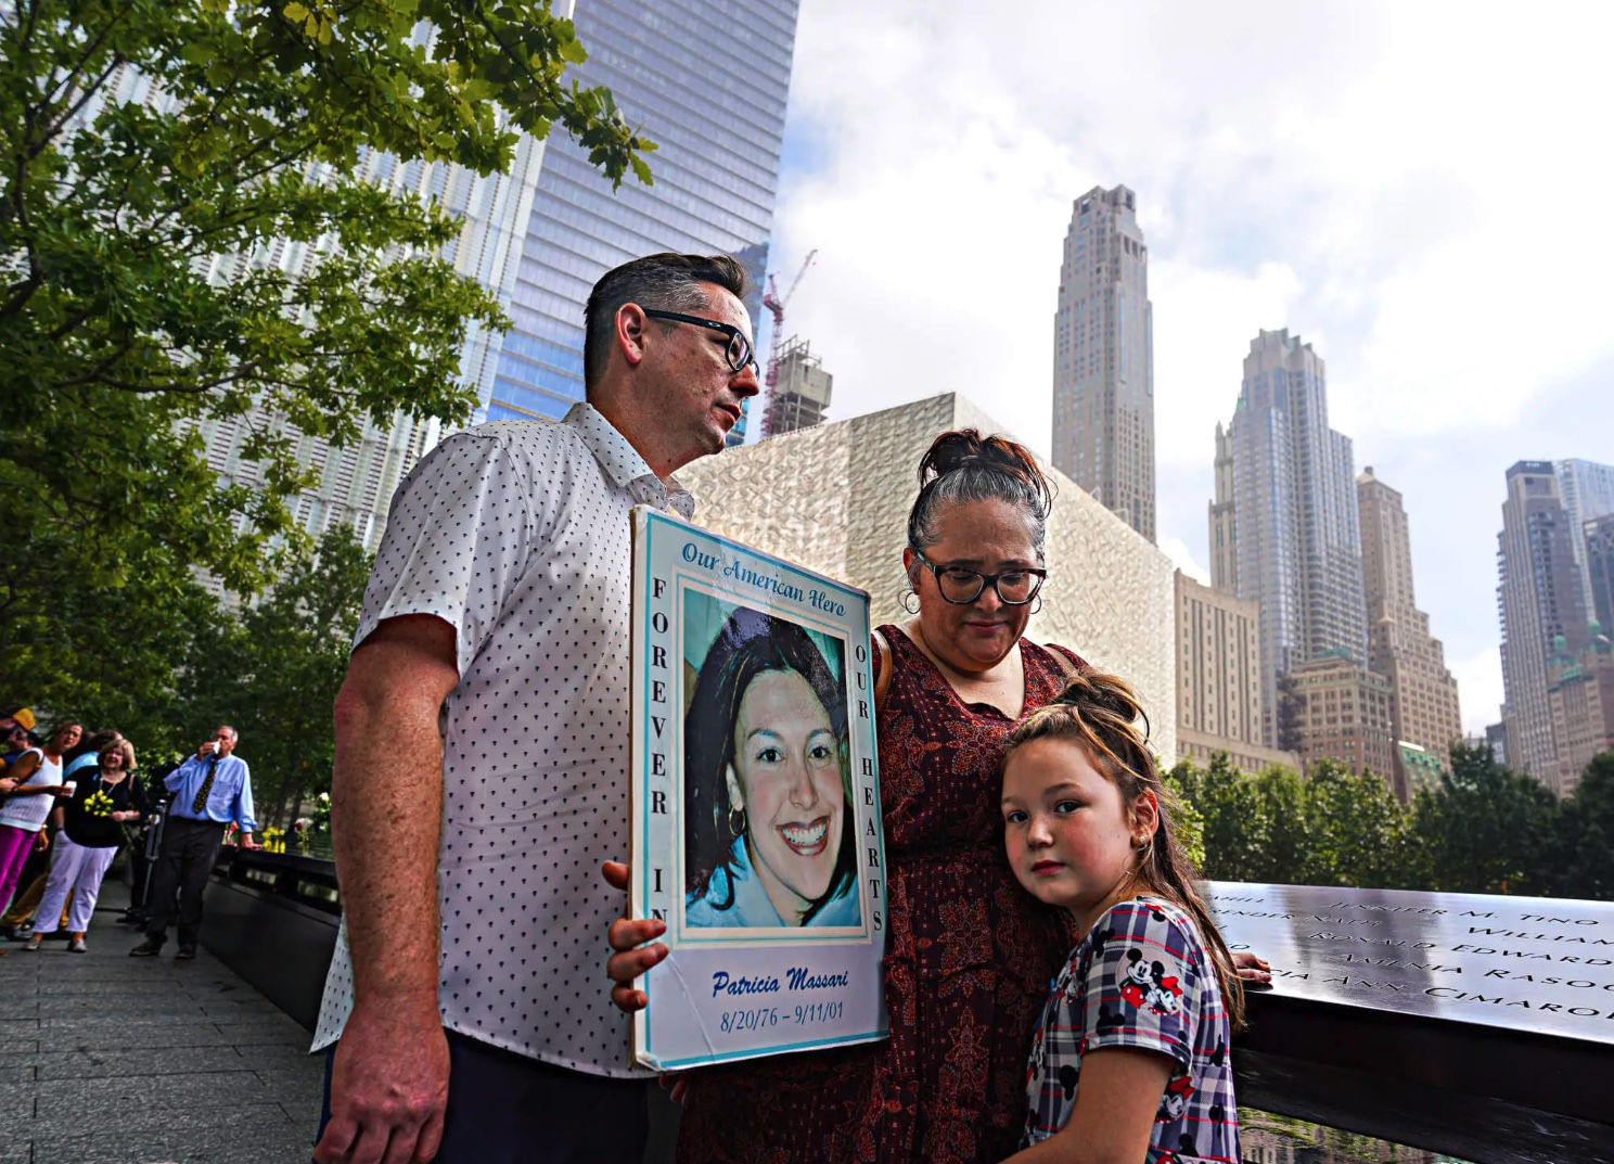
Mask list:
[[[131,957],[152,957],[168,941],[168,927],[179,917],[179,951],[176,959],[197,956],[202,932],[202,894],[207,878],[218,862],[229,822],[240,827],[240,844],[258,846],[252,819],[252,773],[236,751],[236,728],[221,726],[197,754],[165,777],[163,785],[174,794],[163,820],[163,844],[152,877],[152,899],[147,902],[145,941],[129,951]],[[178,904],[176,904],[178,896]]]

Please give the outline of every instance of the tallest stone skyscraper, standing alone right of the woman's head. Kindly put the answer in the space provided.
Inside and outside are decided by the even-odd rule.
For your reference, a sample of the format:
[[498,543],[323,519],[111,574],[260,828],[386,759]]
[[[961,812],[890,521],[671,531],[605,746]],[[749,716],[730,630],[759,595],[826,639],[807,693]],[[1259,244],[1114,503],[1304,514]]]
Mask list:
[[1075,200],[1054,313],[1054,467],[1154,541],[1154,308],[1136,195]]

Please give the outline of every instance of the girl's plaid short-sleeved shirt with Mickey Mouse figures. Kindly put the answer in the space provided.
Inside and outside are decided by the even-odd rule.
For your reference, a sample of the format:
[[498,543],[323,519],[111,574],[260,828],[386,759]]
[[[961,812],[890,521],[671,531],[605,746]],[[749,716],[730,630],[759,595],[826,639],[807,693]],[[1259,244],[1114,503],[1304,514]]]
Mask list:
[[1164,898],[1110,907],[1054,980],[1027,1067],[1022,1148],[1070,1122],[1081,1056],[1109,1046],[1170,1056],[1148,1164],[1238,1164],[1238,1104],[1228,1019],[1215,967],[1193,920]]

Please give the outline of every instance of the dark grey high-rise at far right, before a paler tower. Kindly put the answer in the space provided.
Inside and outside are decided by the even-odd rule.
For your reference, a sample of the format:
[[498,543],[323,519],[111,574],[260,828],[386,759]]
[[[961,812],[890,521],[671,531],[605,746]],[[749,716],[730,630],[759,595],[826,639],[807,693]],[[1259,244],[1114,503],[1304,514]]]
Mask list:
[[1503,689],[1507,762],[1561,791],[1548,662],[1578,657],[1587,609],[1575,533],[1553,462],[1520,460],[1507,470],[1503,531],[1496,536],[1496,605],[1503,620]]

